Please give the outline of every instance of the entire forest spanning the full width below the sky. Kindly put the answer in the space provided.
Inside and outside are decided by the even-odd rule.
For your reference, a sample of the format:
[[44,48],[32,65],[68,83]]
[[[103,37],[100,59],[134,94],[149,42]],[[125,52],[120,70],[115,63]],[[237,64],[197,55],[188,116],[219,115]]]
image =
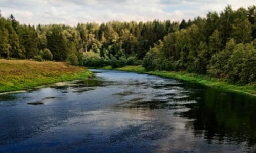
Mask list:
[[0,58],[186,71],[256,81],[256,6],[179,21],[26,25],[0,13]]

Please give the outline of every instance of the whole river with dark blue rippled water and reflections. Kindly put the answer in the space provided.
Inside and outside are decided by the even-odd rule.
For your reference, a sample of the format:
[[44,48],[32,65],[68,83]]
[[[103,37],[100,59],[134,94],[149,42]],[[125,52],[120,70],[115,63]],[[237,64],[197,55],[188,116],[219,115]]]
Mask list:
[[147,74],[0,95],[0,152],[255,152],[256,98]]

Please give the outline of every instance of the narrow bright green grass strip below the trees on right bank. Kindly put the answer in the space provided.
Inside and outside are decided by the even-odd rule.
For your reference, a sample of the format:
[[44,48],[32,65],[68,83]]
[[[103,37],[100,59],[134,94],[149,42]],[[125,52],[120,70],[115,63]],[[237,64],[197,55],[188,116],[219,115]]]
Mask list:
[[[112,69],[112,68],[111,66],[106,66],[106,67],[103,67],[102,69]],[[225,90],[231,90],[231,91],[236,91],[236,92],[251,94],[256,96],[256,83],[251,83],[244,86],[233,85],[223,80],[210,78],[205,75],[199,75],[195,73],[176,72],[176,71],[146,71],[141,65],[125,66],[121,68],[115,68],[115,70],[147,73],[147,74],[158,75],[166,78],[176,78],[179,80],[196,82],[206,86],[211,86],[211,87],[216,87],[216,88],[221,88]]]

